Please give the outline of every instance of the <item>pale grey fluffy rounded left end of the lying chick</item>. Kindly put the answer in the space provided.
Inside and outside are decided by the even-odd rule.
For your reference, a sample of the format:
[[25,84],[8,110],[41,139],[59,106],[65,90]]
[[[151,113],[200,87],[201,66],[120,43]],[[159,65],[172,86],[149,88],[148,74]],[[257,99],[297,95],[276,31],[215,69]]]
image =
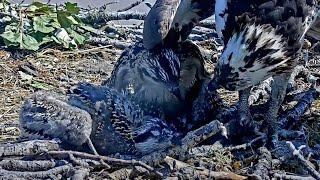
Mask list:
[[22,137],[59,138],[80,146],[90,136],[92,119],[86,111],[68,105],[61,95],[37,92],[21,107],[20,127]]

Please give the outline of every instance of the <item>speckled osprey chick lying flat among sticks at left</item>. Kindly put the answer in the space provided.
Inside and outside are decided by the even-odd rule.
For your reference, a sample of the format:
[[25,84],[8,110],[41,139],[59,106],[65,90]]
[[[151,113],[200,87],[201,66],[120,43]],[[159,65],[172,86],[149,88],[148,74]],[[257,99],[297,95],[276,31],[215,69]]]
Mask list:
[[144,116],[123,94],[104,86],[80,83],[67,95],[36,92],[22,105],[21,137],[59,138],[66,148],[85,143],[103,155],[145,155],[179,143],[165,121]]

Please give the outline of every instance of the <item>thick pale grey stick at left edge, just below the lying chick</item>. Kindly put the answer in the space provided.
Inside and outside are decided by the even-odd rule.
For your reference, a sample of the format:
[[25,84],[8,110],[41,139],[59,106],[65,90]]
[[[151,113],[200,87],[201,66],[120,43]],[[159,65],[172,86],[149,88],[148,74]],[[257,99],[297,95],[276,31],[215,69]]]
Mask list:
[[59,145],[56,141],[32,140],[15,144],[1,144],[0,157],[29,156],[56,150],[59,150]]

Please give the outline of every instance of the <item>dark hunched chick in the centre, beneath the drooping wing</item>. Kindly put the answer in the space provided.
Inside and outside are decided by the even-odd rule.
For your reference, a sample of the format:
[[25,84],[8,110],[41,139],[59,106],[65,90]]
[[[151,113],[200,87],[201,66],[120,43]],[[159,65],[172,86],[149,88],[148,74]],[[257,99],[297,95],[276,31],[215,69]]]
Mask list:
[[[191,41],[152,51],[138,42],[123,52],[110,80],[103,84],[127,94],[145,115],[177,124],[182,122],[177,118],[190,117],[201,86],[211,78],[205,61]],[[188,121],[178,126],[184,127]]]

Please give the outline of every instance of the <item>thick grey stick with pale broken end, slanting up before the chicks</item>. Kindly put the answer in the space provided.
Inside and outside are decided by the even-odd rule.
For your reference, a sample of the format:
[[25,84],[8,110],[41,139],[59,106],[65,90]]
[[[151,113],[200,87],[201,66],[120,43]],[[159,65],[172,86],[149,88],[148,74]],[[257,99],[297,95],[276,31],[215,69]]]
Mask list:
[[154,152],[149,155],[146,155],[141,158],[143,162],[147,162],[151,165],[158,165],[166,156],[179,156],[179,159],[185,159],[186,155],[190,148],[198,145],[202,141],[206,140],[207,138],[221,133],[224,136],[227,136],[226,128],[223,126],[222,123],[215,120],[211,123],[202,126],[201,128],[189,132],[182,140],[181,145],[177,147],[173,147],[168,149],[165,152]]

